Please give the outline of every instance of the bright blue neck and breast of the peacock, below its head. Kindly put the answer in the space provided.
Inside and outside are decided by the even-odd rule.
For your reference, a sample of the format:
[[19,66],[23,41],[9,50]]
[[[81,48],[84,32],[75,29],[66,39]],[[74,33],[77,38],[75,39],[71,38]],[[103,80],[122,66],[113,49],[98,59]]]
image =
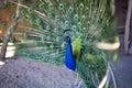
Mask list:
[[76,68],[76,61],[73,56],[73,50],[72,50],[70,43],[68,43],[66,45],[65,65],[67,68],[72,69],[72,70],[75,70],[75,68]]

